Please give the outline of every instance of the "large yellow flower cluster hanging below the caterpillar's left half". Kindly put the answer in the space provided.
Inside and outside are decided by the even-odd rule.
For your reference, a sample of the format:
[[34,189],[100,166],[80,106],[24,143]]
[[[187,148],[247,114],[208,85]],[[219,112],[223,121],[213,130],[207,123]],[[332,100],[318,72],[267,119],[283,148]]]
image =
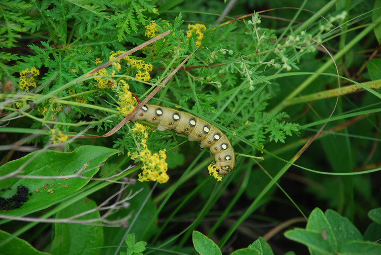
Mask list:
[[139,173],[139,181],[158,181],[158,183],[166,183],[169,180],[167,174],[168,164],[165,162],[167,155],[165,150],[158,153],[153,153],[148,150],[147,138],[148,131],[145,126],[139,123],[135,123],[134,128],[132,128],[134,134],[140,137],[139,144],[140,148],[136,152],[129,152],[128,155],[132,159],[139,159],[143,163],[142,172]]

